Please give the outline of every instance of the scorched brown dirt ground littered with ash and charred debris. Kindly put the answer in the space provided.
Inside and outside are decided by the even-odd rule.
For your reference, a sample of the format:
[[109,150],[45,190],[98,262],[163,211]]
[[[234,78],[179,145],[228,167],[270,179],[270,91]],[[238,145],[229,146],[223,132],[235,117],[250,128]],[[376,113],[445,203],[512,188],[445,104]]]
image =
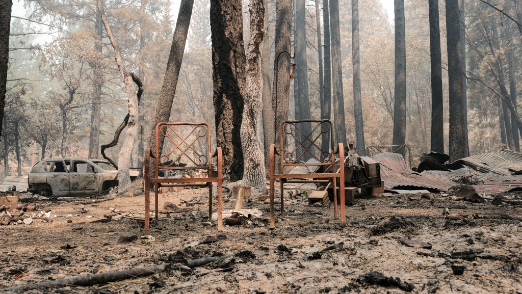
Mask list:
[[[144,277],[21,292],[522,293],[522,206],[442,193],[358,195],[342,227],[332,204],[310,206],[293,192],[275,229],[268,228],[268,203],[253,191],[243,208],[263,216],[223,231],[216,222],[208,226],[207,189],[160,194],[153,239],[141,239],[143,221],[104,217],[114,215],[110,208],[143,210],[143,194],[45,200],[22,194],[20,203],[36,208],[25,216],[50,211],[50,218],[0,226],[0,288],[168,264]],[[503,195],[522,199],[520,192]],[[165,202],[181,209],[161,213]],[[225,210],[234,206],[234,199],[224,203]],[[221,258],[188,266],[209,256]]]

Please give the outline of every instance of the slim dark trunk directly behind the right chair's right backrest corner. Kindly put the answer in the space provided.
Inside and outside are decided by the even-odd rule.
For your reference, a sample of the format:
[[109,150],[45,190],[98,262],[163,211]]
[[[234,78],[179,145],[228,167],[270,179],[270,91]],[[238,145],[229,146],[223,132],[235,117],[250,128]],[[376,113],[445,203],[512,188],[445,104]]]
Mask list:
[[[330,7],[328,0],[323,0],[323,27],[325,42],[325,71],[324,71],[324,99],[321,101],[321,119],[331,119],[331,48],[330,48]],[[336,131],[336,130],[334,130]],[[322,150],[330,147],[330,138],[324,134],[322,138]]]

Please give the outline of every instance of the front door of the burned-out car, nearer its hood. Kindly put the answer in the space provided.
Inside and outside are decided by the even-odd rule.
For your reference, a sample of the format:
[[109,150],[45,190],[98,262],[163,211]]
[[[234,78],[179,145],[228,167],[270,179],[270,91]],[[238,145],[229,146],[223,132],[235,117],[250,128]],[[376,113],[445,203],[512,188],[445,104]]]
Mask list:
[[96,169],[87,161],[73,160],[70,172],[70,194],[74,196],[98,193]]

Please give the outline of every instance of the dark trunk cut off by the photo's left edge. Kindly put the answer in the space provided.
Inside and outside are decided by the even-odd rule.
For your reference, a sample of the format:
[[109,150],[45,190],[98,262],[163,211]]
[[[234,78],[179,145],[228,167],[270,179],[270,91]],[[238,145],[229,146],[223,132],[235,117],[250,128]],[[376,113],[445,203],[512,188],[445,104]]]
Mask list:
[[[12,6],[11,0],[0,1],[0,122],[3,122],[4,117]],[[0,125],[0,134],[2,134],[2,125]]]

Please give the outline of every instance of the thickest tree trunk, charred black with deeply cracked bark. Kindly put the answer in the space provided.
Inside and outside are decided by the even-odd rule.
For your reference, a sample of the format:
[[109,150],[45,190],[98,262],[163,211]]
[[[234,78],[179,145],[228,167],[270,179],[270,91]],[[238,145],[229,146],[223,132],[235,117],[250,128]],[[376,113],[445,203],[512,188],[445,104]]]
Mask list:
[[241,0],[211,0],[213,104],[216,143],[230,181],[243,177],[241,122],[245,96],[245,48]]

